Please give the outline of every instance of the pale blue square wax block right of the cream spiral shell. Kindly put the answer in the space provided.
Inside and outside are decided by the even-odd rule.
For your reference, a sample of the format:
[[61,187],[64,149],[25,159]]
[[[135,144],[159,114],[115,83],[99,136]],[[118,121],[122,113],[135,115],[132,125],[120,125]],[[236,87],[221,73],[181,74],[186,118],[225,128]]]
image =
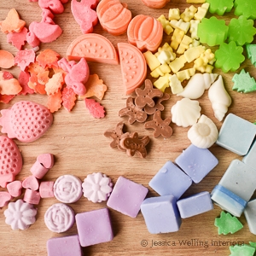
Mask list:
[[239,154],[247,154],[256,134],[256,125],[229,113],[218,133],[217,144]]

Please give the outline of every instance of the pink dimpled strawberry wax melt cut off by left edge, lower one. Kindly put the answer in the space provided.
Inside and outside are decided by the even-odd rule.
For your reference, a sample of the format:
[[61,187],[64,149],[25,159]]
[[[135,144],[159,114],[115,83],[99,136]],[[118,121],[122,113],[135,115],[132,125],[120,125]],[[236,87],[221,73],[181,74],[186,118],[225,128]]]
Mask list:
[[0,136],[0,145],[0,186],[5,188],[21,171],[22,158],[20,149],[9,137]]

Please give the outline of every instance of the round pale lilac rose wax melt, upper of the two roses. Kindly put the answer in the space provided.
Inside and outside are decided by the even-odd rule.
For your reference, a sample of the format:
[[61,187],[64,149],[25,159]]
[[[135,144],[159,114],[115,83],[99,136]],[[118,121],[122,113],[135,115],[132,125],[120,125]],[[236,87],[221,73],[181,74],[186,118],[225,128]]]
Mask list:
[[82,182],[79,177],[73,175],[58,177],[54,184],[54,194],[55,198],[63,203],[79,201],[83,194]]

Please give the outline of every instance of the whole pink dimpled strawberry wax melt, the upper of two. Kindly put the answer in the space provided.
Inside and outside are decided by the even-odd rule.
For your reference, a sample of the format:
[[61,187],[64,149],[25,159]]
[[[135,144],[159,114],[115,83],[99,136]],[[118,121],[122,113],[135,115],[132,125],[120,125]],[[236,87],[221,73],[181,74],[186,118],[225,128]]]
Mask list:
[[31,143],[44,135],[52,125],[49,109],[35,102],[16,102],[12,108],[0,112],[2,132],[22,143]]

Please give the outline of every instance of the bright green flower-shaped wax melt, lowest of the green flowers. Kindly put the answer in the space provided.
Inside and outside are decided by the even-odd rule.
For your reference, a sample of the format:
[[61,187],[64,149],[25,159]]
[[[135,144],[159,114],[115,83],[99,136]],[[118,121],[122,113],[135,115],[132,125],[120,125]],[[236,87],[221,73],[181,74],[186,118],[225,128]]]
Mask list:
[[224,73],[229,71],[234,72],[239,67],[242,61],[245,60],[242,55],[243,48],[236,46],[234,41],[229,44],[223,43],[219,45],[219,49],[215,51],[215,67],[221,68]]

